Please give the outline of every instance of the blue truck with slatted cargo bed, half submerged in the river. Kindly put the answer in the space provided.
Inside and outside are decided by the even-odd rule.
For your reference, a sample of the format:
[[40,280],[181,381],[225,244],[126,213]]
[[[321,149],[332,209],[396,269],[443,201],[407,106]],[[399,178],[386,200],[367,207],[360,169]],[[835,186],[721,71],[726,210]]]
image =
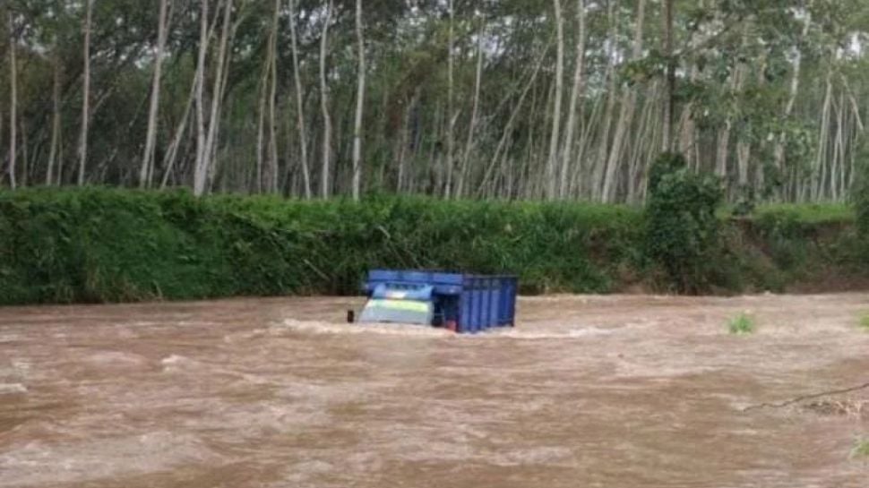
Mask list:
[[400,323],[474,334],[513,327],[518,278],[419,270],[370,270],[359,323]]

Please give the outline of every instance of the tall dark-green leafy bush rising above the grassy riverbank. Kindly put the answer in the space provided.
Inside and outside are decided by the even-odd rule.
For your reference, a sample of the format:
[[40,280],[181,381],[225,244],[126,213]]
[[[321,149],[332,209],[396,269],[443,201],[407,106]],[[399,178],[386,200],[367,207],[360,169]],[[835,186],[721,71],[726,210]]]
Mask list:
[[723,201],[718,180],[693,173],[681,155],[662,154],[650,170],[646,204],[646,248],[665,270],[667,284],[681,293],[710,287],[710,267],[716,261]]

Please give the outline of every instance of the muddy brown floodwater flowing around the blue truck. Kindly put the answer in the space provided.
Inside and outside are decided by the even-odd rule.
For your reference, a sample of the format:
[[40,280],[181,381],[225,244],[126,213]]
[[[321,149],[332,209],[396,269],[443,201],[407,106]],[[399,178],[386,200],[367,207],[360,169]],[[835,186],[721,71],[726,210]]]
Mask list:
[[360,304],[0,309],[0,487],[869,487],[869,392],[745,410],[869,381],[869,295],[527,298],[476,337]]

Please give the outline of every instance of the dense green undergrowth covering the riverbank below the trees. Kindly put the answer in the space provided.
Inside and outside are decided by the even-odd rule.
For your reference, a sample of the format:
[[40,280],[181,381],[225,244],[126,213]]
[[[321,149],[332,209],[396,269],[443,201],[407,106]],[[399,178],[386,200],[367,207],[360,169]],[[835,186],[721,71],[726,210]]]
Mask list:
[[[869,275],[833,207],[720,218],[701,293],[830,286]],[[834,217],[825,218],[824,215]],[[678,290],[639,209],[370,197],[195,199],[184,191],[0,193],[0,304],[356,294],[372,267],[511,272],[524,293]]]

